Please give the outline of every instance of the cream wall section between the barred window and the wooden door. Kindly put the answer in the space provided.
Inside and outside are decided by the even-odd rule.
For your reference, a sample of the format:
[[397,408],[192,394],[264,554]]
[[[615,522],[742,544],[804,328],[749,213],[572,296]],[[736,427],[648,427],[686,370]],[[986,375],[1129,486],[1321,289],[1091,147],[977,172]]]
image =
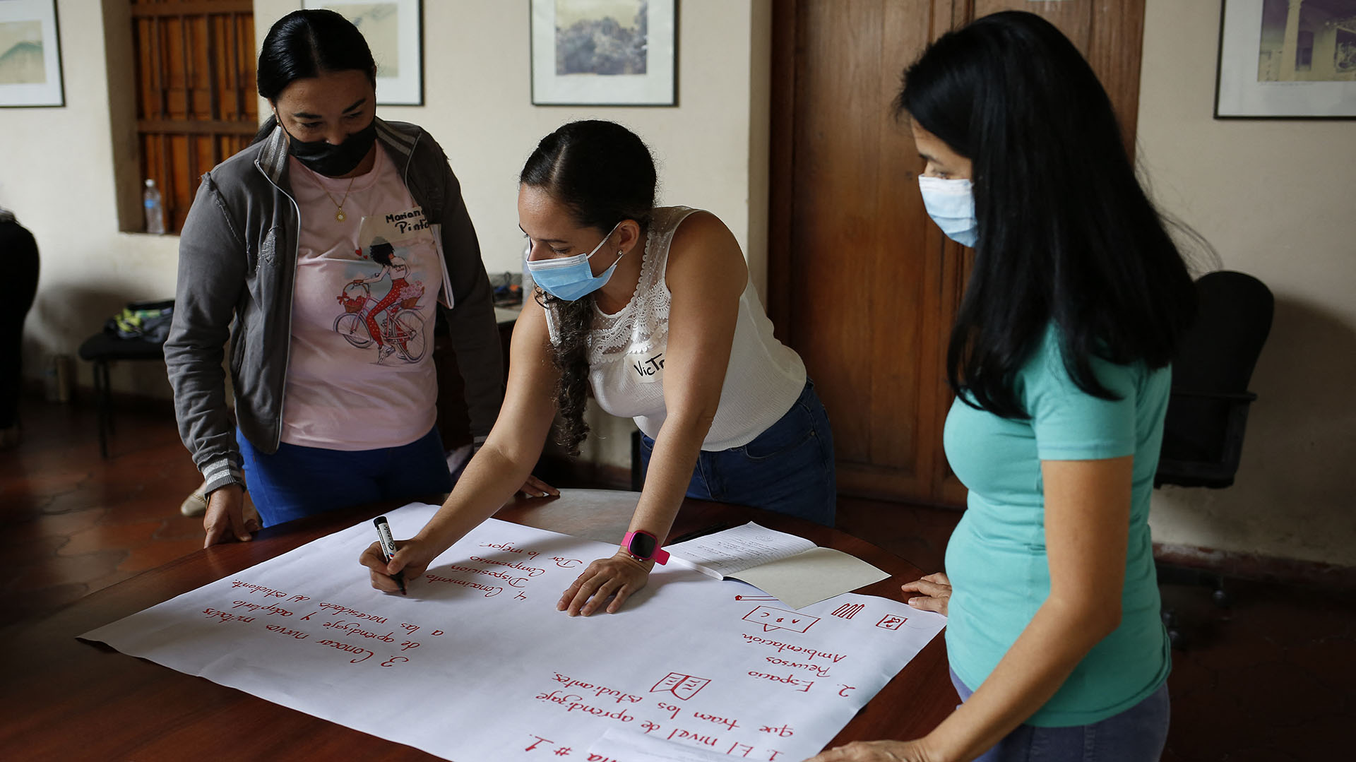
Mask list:
[[[491,273],[522,266],[517,209],[522,163],[553,129],[594,118],[626,125],[650,145],[660,203],[709,209],[762,263],[766,202],[754,207],[750,197],[766,194],[767,178],[766,168],[762,176],[750,172],[750,163],[766,156],[767,4],[681,3],[678,107],[580,108],[532,104],[529,3],[426,1],[424,106],[382,106],[377,113],[423,126],[447,152]],[[296,8],[296,1],[256,0],[256,41],[262,43],[268,27]],[[762,46],[757,69],[755,45]],[[761,113],[751,113],[754,103],[761,103]],[[267,115],[266,104],[260,113]],[[750,252],[751,239],[763,249]]]

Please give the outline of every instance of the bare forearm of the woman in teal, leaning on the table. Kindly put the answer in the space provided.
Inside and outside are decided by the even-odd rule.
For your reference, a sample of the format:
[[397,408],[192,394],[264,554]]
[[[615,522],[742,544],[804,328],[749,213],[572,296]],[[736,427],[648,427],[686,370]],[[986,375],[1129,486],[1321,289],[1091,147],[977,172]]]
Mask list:
[[1047,599],[989,678],[923,744],[934,761],[968,761],[1036,713],[1115,629],[1104,610]]

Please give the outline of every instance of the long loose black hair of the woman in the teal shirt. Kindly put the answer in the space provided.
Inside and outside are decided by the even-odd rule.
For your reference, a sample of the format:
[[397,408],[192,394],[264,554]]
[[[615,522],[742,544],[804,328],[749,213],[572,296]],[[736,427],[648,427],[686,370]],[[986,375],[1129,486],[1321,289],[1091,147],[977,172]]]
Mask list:
[[[1078,49],[1035,14],[993,14],[928,46],[895,99],[971,160],[979,239],[946,378],[967,404],[1026,418],[1017,370],[1058,328],[1083,392],[1092,358],[1162,367],[1195,316],[1191,275]],[[968,396],[967,396],[968,393]]]

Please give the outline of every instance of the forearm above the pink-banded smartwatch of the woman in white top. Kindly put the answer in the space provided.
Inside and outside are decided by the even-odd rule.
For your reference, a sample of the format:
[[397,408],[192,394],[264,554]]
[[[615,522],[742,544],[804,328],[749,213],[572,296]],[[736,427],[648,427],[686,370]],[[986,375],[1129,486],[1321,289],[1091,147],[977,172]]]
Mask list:
[[650,457],[640,503],[631,519],[632,530],[651,532],[660,542],[667,537],[687,494],[701,443],[709,430],[709,418],[670,416],[664,420],[655,439],[655,452]]

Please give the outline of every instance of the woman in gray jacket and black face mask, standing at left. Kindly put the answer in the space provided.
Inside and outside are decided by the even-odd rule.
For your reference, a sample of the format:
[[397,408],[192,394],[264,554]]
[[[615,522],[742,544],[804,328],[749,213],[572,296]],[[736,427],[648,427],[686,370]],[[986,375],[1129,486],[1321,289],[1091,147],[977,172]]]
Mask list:
[[[247,479],[264,526],[450,489],[428,351],[439,304],[476,443],[503,399],[460,184],[427,133],[376,117],[376,64],[358,28],[332,11],[283,16],[258,81],[274,115],[202,178],[165,342],[179,433],[209,496],[206,545],[259,527],[243,515]],[[374,247],[408,263],[403,277],[372,279]]]

